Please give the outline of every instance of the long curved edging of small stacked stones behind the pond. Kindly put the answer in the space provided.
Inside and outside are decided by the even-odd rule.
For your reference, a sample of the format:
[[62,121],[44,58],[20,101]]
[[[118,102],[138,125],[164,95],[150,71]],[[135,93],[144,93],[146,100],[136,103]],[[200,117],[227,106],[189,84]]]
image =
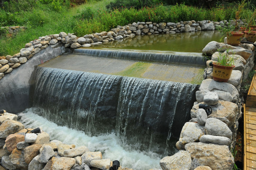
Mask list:
[[[37,40],[26,43],[25,48],[21,49],[19,53],[13,56],[0,56],[0,79],[6,74],[12,72],[14,68],[18,68],[20,64],[26,63],[27,59],[32,58],[39,51],[46,49],[48,45],[54,45],[54,47],[63,45],[65,48],[75,49],[79,47],[90,47],[91,45],[108,43],[114,40],[121,40],[126,37],[134,37],[135,35],[176,34],[180,32],[215,30],[220,27],[234,24],[234,20],[230,20],[229,22],[226,20],[220,22],[213,22],[210,20],[196,22],[192,20],[180,21],[178,23],[134,22],[127,26],[117,26],[117,28],[113,28],[109,32],[103,31],[101,33],[86,34],[83,37],[77,37],[74,34],[66,34],[64,32],[46,35],[39,37]],[[246,21],[239,20],[238,25],[246,25]],[[25,29],[25,27],[10,26],[8,29],[10,32],[14,32],[15,30]]]

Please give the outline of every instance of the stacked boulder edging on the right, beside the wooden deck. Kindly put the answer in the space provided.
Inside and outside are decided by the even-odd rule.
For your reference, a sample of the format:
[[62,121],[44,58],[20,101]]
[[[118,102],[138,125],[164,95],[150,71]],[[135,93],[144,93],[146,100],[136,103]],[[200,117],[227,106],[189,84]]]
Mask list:
[[[248,72],[254,67],[254,49],[252,44],[235,47],[209,42],[205,46],[202,52],[211,56],[211,60],[207,61],[205,80],[196,92],[197,102],[191,110],[192,119],[185,123],[176,143],[181,151],[160,161],[163,170],[194,170],[200,165],[209,166],[211,170],[233,169],[235,162],[232,149],[236,142],[238,119],[242,115],[243,101],[239,98],[239,91],[242,80],[247,78]],[[227,83],[212,79],[212,67],[209,64],[217,61],[219,55],[228,55],[234,59],[235,68]],[[199,104],[209,105],[212,113],[207,115],[204,109],[199,108]],[[180,165],[183,155],[190,155],[191,158]],[[196,166],[192,161],[197,162]]]

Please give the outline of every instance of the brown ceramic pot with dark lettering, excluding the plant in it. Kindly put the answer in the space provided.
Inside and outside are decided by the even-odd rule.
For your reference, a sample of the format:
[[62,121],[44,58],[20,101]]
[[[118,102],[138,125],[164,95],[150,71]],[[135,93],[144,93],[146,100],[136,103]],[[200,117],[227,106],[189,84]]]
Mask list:
[[213,80],[219,81],[219,82],[228,82],[232,70],[235,66],[220,66],[216,63],[213,64],[213,71],[212,76]]

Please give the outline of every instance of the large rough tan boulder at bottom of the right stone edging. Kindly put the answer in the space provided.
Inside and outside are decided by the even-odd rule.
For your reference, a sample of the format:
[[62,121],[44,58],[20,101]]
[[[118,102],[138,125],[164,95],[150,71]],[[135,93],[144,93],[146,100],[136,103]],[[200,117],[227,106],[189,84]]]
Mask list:
[[185,145],[191,157],[196,158],[201,165],[209,166],[212,170],[232,170],[234,158],[226,145],[205,144],[192,142]]

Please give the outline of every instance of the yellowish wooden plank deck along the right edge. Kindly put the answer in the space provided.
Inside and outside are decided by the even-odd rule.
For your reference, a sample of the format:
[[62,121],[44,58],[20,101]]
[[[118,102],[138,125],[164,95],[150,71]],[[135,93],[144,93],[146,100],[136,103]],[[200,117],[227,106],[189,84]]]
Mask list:
[[244,170],[256,170],[256,74],[244,105]]

